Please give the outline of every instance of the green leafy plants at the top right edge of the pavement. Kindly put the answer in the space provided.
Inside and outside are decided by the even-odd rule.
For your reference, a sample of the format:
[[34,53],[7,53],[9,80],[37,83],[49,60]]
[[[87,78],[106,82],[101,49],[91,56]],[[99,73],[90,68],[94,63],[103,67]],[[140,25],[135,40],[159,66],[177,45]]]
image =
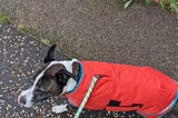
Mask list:
[[[128,8],[134,1],[136,0],[122,0],[125,3],[125,9]],[[145,0],[146,6],[149,6],[152,0]],[[154,0],[158,2],[164,9],[172,12],[178,13],[178,0]]]

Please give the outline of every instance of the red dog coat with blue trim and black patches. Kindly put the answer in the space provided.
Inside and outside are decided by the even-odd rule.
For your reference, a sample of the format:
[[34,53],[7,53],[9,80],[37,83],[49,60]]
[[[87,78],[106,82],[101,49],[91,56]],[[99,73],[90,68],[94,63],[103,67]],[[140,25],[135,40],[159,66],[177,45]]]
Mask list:
[[96,75],[107,77],[97,81],[85,106],[87,109],[136,110],[148,118],[157,118],[175,104],[177,82],[151,67],[98,61],[80,61],[80,67],[76,88],[66,94],[68,101],[76,107],[80,106]]

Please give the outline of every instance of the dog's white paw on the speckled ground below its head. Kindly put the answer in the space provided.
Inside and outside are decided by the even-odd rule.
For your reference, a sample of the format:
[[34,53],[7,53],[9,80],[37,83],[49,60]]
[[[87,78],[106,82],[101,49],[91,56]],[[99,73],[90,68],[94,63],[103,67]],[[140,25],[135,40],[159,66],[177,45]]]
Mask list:
[[55,114],[61,114],[61,112],[68,111],[67,105],[55,106],[51,108],[51,110]]

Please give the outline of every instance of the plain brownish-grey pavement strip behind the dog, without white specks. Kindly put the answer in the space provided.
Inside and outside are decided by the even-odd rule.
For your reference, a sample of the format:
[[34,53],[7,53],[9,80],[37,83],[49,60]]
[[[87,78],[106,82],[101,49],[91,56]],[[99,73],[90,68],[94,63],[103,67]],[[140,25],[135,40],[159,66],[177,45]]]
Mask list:
[[[120,0],[0,0],[14,26],[32,29],[67,53],[101,61],[149,65],[178,78],[178,17],[158,4]],[[150,48],[151,47],[151,48]]]

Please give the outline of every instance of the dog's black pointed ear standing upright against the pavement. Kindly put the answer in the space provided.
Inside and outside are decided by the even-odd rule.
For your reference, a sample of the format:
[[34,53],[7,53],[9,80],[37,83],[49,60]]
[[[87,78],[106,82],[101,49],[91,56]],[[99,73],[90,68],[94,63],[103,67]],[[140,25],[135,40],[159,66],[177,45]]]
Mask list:
[[49,48],[48,53],[47,53],[47,57],[43,59],[43,62],[44,62],[44,63],[55,60],[53,55],[55,55],[55,48],[56,48],[56,46],[57,46],[57,45],[52,45],[52,46]]

